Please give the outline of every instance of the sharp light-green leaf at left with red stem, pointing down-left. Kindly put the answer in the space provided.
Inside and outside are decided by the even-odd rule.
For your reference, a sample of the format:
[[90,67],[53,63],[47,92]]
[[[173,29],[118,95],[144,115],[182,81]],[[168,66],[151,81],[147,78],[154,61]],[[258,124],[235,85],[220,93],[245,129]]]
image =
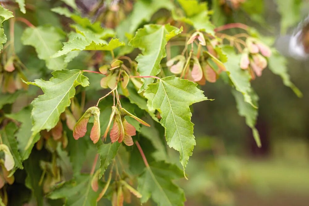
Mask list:
[[32,135],[25,150],[33,146],[34,137],[38,132],[43,129],[50,130],[56,126],[60,114],[70,106],[70,99],[75,95],[75,87],[89,85],[88,78],[78,69],[54,71],[52,75],[49,81],[36,79],[34,82],[26,82],[40,87],[44,95],[32,101]]

